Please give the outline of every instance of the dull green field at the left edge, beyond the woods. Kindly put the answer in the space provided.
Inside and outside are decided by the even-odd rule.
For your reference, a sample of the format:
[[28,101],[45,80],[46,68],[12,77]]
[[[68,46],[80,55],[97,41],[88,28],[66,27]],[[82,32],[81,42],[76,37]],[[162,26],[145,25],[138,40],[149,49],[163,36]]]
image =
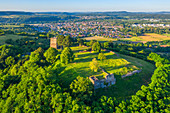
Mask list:
[[[17,39],[21,39],[24,37],[25,36],[11,35],[11,34],[3,35],[3,36],[0,36],[0,45],[5,44],[5,40],[7,39],[17,40]],[[31,37],[31,38],[34,38],[34,37]]]

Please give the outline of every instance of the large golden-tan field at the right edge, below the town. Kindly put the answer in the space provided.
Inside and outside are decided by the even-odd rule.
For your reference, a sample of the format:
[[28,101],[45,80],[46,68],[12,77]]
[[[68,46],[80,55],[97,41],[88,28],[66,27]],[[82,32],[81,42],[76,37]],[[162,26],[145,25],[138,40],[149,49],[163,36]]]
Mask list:
[[148,42],[148,41],[163,41],[170,40],[170,35],[159,35],[155,33],[145,33],[143,36],[124,38],[122,40],[138,41],[138,42]]

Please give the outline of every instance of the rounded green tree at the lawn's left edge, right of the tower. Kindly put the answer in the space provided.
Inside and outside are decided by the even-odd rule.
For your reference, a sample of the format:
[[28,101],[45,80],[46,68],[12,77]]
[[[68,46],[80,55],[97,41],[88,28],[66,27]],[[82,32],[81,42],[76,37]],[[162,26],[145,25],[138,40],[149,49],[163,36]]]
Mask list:
[[74,60],[73,51],[69,47],[64,48],[61,53],[60,59],[61,62],[65,64],[72,62]]

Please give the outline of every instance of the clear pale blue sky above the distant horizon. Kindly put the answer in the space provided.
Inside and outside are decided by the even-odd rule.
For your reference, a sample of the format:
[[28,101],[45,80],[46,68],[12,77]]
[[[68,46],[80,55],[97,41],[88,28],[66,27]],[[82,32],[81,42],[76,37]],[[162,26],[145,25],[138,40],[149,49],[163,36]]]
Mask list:
[[170,11],[170,0],[0,0],[0,11],[159,12]]

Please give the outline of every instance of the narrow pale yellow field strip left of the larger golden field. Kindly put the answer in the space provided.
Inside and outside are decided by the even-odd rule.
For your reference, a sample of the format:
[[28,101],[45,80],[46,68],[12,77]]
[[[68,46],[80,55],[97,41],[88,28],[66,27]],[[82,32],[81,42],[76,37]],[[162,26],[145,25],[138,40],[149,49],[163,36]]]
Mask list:
[[99,42],[117,41],[116,39],[105,38],[105,37],[101,37],[101,36],[86,37],[86,38],[83,38],[83,39],[86,39],[87,41],[90,41],[90,40],[98,40]]

